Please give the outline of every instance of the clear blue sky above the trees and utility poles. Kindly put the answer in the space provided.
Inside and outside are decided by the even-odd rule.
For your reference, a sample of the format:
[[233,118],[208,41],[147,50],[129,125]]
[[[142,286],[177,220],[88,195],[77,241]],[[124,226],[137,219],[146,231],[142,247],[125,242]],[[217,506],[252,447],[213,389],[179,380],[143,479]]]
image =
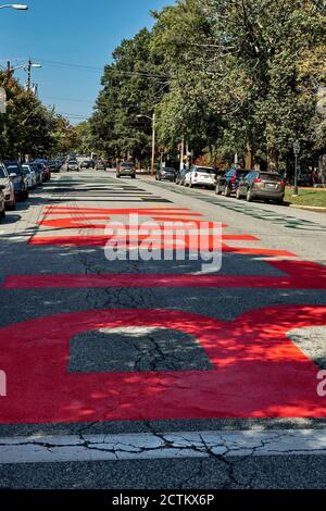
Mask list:
[[[21,1],[21,0],[18,0]],[[5,2],[0,0],[0,3]],[[29,57],[42,64],[34,70],[45,104],[60,113],[86,117],[92,111],[104,64],[123,38],[152,26],[151,10],[174,0],[22,0],[29,11],[0,10],[0,65],[21,65]],[[99,71],[59,67],[54,62],[82,64]],[[25,73],[16,76],[25,82]]]

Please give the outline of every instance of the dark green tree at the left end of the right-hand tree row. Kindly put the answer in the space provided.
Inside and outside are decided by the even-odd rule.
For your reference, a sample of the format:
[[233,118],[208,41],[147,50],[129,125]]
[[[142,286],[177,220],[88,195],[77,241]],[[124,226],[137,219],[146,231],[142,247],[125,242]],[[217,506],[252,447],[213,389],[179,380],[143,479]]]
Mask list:
[[166,77],[150,52],[151,35],[142,29],[123,40],[105,66],[102,90],[91,117],[95,148],[110,158],[143,159],[151,148],[151,125],[137,115],[151,115]]

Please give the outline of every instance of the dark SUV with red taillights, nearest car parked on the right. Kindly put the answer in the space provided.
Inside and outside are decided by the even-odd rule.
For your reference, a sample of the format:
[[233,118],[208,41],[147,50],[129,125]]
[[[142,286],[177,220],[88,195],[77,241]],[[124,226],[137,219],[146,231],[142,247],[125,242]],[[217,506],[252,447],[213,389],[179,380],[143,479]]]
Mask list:
[[273,200],[283,203],[286,184],[276,173],[252,171],[243,177],[237,189],[237,199],[246,197],[248,202],[253,199]]

